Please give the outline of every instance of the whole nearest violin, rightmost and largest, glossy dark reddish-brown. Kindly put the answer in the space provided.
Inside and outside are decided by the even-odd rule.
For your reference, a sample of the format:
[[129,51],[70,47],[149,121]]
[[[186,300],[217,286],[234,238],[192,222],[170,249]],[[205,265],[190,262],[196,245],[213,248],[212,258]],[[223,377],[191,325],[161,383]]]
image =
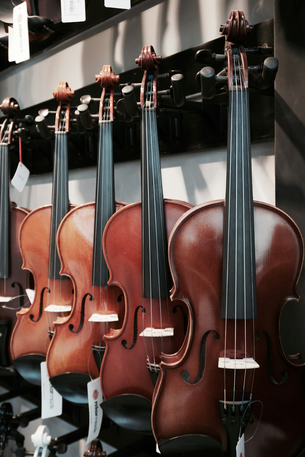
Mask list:
[[[304,243],[288,214],[253,202],[248,85],[272,85],[278,62],[248,67],[246,53],[264,53],[244,48],[251,29],[242,11],[232,11],[220,26],[225,72],[200,71],[207,98],[225,73],[226,194],[185,213],[169,240],[171,298],[187,304],[189,327],[177,353],[161,356],[152,428],[162,455],[232,457],[242,435],[251,457],[297,456],[305,446],[304,361],[284,353],[279,333],[284,305],[300,299]],[[220,58],[198,53],[204,64]]]

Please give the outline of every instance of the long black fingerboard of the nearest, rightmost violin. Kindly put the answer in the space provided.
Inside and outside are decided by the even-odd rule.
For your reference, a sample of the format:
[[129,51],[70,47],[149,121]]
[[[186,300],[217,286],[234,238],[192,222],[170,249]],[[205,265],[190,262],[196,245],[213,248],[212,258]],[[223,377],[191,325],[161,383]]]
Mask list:
[[257,317],[248,90],[229,90],[221,316]]

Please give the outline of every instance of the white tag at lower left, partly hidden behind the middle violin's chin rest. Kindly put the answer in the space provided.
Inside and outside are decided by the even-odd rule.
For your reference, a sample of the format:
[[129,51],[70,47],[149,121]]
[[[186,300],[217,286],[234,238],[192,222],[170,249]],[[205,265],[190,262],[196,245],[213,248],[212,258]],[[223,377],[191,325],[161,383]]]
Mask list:
[[41,362],[41,418],[60,416],[63,410],[63,397],[54,389],[48,378],[47,364]]

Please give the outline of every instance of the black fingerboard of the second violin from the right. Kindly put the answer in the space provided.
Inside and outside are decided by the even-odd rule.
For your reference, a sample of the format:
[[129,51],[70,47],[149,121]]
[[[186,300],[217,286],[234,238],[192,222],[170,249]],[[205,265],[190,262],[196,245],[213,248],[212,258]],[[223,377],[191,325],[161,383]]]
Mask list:
[[155,108],[142,119],[143,298],[169,296],[169,266]]

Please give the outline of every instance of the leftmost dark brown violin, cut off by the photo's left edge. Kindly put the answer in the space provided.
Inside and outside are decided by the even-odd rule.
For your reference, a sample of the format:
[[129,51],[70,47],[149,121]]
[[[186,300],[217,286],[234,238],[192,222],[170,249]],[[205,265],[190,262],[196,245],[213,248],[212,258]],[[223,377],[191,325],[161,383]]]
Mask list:
[[16,311],[28,303],[28,271],[22,271],[18,244],[19,228],[29,211],[10,201],[9,153],[18,136],[28,141],[25,128],[33,123],[31,116],[19,119],[20,108],[12,97],[6,97],[0,109],[5,120],[0,128],[0,374],[14,374],[10,353],[11,332],[16,324]]

